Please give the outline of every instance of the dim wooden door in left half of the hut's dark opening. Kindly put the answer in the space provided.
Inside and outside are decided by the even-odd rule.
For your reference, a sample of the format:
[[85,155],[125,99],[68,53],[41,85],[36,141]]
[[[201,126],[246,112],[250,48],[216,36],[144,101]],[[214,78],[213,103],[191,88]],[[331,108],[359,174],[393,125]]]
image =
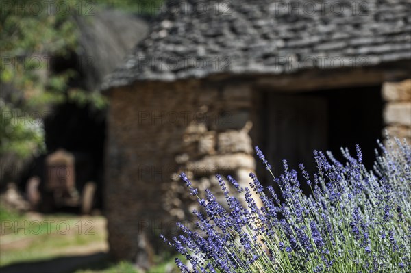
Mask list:
[[308,170],[313,170],[312,151],[328,148],[328,100],[314,95],[267,96],[265,153],[273,172],[282,173],[282,159],[287,159],[290,168],[303,162]]

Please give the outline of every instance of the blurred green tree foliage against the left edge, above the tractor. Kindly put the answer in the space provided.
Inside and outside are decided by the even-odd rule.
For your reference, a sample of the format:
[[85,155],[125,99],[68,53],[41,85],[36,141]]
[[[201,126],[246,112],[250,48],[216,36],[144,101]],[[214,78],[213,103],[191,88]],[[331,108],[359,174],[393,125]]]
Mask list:
[[73,71],[49,70],[51,57],[64,57],[77,46],[71,13],[45,4],[1,2],[1,155],[14,153],[25,158],[44,151],[42,114],[51,103],[64,102],[66,82],[73,75]]

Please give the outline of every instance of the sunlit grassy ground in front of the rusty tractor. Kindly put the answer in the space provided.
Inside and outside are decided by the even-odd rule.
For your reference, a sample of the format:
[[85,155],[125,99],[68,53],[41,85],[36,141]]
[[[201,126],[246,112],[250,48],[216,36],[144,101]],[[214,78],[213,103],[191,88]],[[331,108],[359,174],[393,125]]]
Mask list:
[[79,216],[47,215],[37,220],[0,209],[0,266],[72,255],[76,248],[106,240],[105,230],[88,230],[92,226]]

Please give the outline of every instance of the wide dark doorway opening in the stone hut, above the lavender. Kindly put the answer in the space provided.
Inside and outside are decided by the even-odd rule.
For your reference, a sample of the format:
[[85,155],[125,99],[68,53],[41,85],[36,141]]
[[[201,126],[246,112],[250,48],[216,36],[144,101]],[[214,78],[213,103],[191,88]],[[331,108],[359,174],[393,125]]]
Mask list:
[[321,92],[264,94],[263,152],[274,174],[282,173],[282,159],[289,168],[303,163],[316,170],[313,151],[332,151],[343,160],[340,147],[356,154],[360,144],[364,164],[371,168],[376,140],[382,137],[381,86],[323,90]]

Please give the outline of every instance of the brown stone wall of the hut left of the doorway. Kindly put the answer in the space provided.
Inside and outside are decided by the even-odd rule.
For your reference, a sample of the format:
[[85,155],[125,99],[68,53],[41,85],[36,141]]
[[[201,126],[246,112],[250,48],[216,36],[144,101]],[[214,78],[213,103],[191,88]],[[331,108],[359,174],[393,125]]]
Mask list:
[[[249,130],[251,89],[177,81],[138,83],[111,93],[108,113],[105,211],[110,250],[145,267],[159,233],[175,233],[195,197],[179,180],[187,173],[199,190],[219,187],[214,174],[242,185],[255,170]],[[192,204],[192,205],[190,205]]]

